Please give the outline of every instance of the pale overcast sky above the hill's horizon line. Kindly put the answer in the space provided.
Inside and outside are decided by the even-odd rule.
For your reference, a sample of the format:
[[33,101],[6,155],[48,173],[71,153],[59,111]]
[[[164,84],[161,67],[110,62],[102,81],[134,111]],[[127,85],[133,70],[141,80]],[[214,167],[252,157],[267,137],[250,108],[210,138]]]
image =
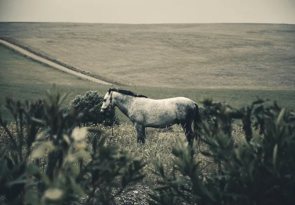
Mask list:
[[0,21],[295,24],[295,0],[0,0]]

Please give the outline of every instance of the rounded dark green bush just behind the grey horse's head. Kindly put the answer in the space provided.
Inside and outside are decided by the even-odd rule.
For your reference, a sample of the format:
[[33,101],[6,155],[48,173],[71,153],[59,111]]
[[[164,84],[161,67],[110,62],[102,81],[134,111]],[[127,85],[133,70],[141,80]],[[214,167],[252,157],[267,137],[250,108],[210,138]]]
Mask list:
[[80,124],[89,126],[91,124],[103,124],[104,126],[112,126],[119,124],[119,119],[115,114],[115,109],[107,114],[101,115],[100,108],[103,103],[104,96],[98,91],[87,91],[85,95],[77,95],[70,103],[70,107],[73,106],[79,112],[93,108],[93,111],[84,119]]

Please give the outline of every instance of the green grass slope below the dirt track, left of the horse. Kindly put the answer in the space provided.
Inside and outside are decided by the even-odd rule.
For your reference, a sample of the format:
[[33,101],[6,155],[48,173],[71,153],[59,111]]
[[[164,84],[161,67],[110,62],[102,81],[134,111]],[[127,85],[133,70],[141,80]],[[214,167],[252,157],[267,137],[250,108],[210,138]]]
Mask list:
[[[43,98],[54,83],[62,92],[69,93],[67,103],[90,89],[105,91],[108,88],[35,62],[2,45],[0,54],[0,104],[6,96],[22,101]],[[0,112],[11,119],[3,106]]]

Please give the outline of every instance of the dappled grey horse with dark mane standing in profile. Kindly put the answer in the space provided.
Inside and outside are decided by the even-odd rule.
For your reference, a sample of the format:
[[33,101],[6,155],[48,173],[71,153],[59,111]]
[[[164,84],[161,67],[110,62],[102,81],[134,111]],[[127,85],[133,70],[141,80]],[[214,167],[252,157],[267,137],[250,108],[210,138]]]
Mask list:
[[[115,107],[135,126],[138,143],[146,143],[146,127],[166,128],[174,124],[182,126],[190,145],[194,138],[200,139],[200,135],[196,133],[201,130],[198,125],[201,121],[200,110],[191,99],[174,97],[155,100],[130,90],[110,88],[104,96],[100,112],[103,115],[105,111],[111,111]],[[193,121],[196,134],[192,130]]]

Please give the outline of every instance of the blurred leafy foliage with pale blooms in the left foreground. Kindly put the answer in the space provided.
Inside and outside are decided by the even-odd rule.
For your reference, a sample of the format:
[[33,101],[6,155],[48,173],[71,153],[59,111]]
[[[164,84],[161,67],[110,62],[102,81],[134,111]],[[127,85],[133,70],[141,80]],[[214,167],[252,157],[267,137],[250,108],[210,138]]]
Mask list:
[[[75,129],[92,110],[62,113],[65,97],[54,87],[43,102],[43,119],[30,115],[30,103],[7,99],[16,132],[0,117],[1,137],[10,141],[0,153],[4,204],[113,204],[124,188],[144,177],[141,158],[107,146],[100,130]],[[88,131],[96,132],[91,146],[84,142]],[[44,157],[45,168],[40,166]]]

